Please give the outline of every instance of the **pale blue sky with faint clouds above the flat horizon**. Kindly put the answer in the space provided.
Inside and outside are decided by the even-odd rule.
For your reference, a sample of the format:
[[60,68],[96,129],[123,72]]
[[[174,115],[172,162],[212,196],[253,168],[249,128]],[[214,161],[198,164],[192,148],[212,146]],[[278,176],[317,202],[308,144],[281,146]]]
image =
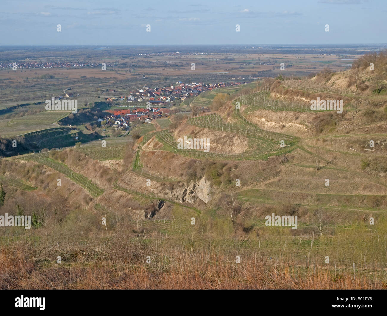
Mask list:
[[0,12],[0,45],[387,42],[387,0],[2,0]]

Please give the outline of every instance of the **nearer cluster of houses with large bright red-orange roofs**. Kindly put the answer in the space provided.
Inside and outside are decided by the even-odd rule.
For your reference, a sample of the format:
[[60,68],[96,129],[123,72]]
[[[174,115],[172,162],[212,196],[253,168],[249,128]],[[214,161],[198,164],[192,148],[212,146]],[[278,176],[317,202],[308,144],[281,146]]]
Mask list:
[[133,110],[105,110],[111,114],[99,118],[99,122],[106,121],[105,126],[116,129],[128,129],[132,123],[151,123],[155,119],[170,117],[171,110],[166,108],[133,109]]

